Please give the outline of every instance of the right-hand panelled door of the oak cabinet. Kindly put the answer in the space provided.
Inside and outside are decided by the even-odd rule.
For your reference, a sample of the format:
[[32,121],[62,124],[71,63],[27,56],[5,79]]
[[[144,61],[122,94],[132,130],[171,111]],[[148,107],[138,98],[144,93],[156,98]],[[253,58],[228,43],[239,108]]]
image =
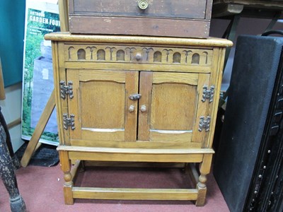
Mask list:
[[141,71],[139,79],[140,141],[202,142],[199,119],[207,115],[202,89],[209,73]]

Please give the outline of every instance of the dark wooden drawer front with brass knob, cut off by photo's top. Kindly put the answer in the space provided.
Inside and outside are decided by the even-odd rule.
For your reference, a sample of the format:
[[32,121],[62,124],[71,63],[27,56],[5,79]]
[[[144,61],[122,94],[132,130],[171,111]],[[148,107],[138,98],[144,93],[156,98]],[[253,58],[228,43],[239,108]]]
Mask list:
[[138,7],[137,1],[123,0],[74,0],[74,16],[146,16],[166,18],[204,18],[206,0],[149,0],[146,10]]

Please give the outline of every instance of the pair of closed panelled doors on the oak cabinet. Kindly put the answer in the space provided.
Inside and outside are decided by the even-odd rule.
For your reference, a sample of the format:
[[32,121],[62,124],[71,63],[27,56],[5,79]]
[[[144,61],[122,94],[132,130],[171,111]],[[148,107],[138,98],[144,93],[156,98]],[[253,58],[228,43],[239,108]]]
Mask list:
[[71,140],[203,142],[209,73],[68,69]]

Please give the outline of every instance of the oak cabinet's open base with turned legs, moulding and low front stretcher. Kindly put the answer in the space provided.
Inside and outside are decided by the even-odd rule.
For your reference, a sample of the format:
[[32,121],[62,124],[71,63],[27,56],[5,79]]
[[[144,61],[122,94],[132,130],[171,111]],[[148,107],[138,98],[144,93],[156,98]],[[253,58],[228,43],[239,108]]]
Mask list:
[[[173,200],[195,201],[196,206],[204,206],[207,193],[207,174],[210,172],[213,149],[120,149],[120,148],[81,148],[59,146],[61,169],[64,172],[65,204],[74,204],[74,199],[116,199],[116,200]],[[197,158],[195,158],[197,155]],[[130,156],[130,157],[128,157]],[[145,157],[144,157],[145,156]],[[133,157],[133,158],[132,158]],[[91,161],[130,161],[149,162],[148,158],[158,158],[158,162],[185,163],[185,171],[190,175],[195,189],[137,189],[74,187],[76,172],[81,160]],[[168,161],[168,158],[170,161]],[[71,160],[76,161],[71,165]],[[134,161],[133,161],[134,160]],[[152,160],[154,161],[154,160]],[[190,163],[190,165],[189,165]],[[194,163],[200,163],[196,170]]]

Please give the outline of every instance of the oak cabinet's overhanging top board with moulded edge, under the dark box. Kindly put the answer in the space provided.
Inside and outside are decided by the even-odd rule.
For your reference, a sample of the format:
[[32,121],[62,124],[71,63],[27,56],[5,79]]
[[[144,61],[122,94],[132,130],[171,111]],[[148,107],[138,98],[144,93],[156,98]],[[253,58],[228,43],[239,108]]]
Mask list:
[[126,35],[74,35],[70,33],[49,33],[45,40],[59,42],[104,42],[120,44],[144,44],[144,45],[192,45],[205,47],[231,47],[230,40],[209,37],[207,39],[179,38],[179,37],[147,37]]

